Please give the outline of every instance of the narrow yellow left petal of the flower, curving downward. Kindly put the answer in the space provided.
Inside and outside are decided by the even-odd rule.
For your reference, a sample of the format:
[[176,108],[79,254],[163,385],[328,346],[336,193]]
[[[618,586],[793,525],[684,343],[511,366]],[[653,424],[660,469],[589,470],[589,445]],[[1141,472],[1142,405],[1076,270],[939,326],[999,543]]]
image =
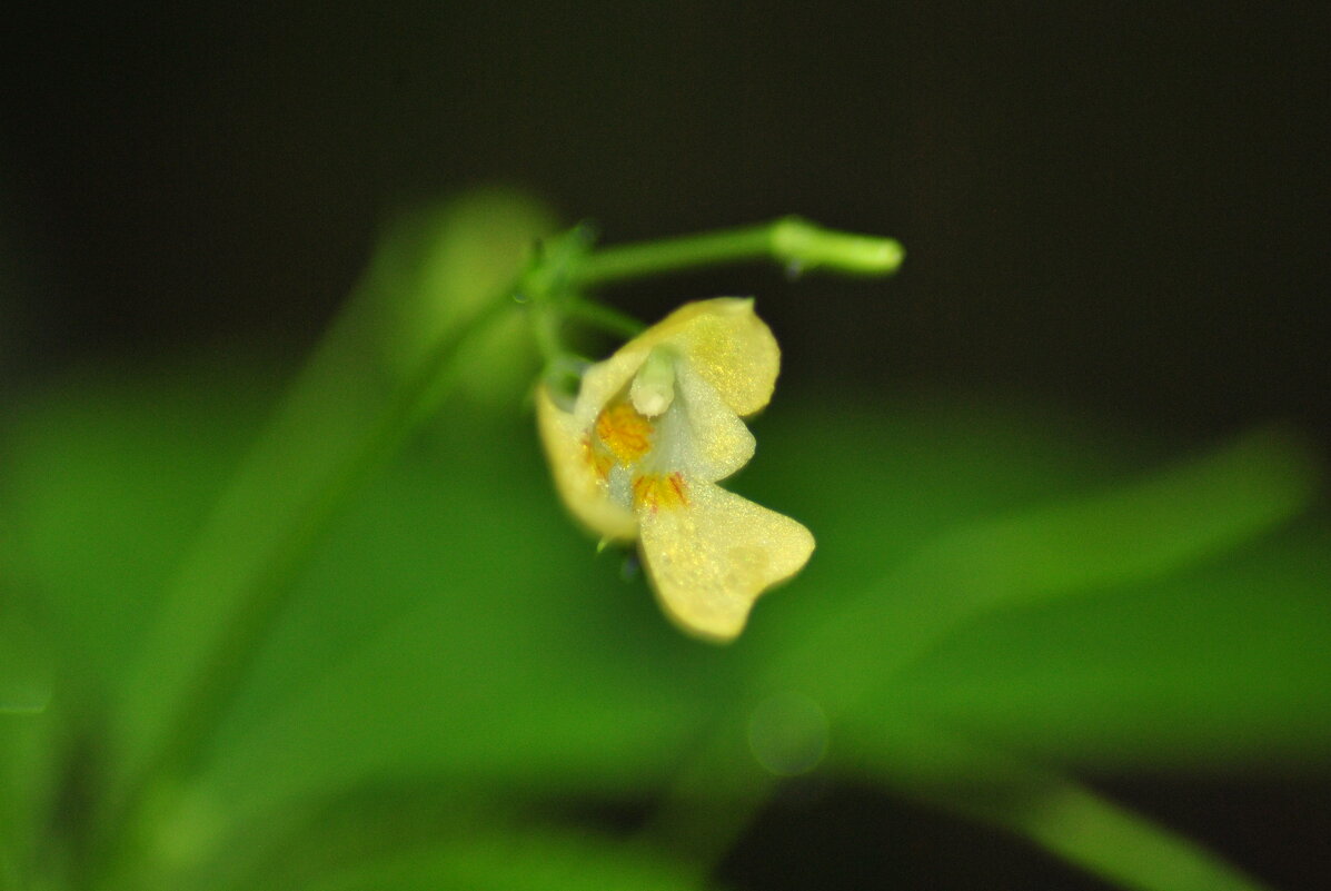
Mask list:
[[638,518],[610,498],[610,487],[588,454],[586,430],[578,426],[572,414],[555,405],[544,385],[536,390],[536,426],[555,487],[568,511],[602,538],[635,538]]

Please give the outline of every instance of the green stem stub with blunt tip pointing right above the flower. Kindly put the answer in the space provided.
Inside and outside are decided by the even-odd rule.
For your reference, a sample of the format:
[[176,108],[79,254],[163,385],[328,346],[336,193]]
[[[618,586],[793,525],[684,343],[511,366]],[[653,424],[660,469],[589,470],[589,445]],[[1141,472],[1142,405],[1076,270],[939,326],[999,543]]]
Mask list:
[[852,276],[889,276],[904,257],[905,250],[893,238],[835,232],[800,217],[781,217],[752,226],[604,248],[580,260],[571,270],[571,280],[586,288],[764,258],[795,272],[827,268]]

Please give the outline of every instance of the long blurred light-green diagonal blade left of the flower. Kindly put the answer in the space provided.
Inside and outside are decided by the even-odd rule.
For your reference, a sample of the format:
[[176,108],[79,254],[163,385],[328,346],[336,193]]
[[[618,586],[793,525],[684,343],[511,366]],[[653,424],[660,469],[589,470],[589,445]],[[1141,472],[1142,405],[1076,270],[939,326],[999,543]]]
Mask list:
[[[181,770],[196,754],[305,551],[437,408],[471,328],[511,309],[504,286],[548,225],[531,201],[492,193],[390,234],[172,582],[112,713],[113,775],[125,787],[113,799],[128,795],[132,807],[149,771]],[[447,312],[427,314],[431,301]],[[402,328],[386,321],[402,304],[433,337],[406,382],[393,380],[402,369],[387,358],[407,350]]]

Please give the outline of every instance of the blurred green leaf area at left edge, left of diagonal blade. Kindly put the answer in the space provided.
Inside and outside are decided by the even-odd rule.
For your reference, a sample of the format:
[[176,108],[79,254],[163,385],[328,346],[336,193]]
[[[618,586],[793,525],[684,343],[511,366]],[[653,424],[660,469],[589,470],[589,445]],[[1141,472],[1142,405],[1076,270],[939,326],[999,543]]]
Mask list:
[[11,408],[7,558],[40,594],[61,675],[95,699],[122,677],[265,398],[246,368],[101,370],[71,372]]

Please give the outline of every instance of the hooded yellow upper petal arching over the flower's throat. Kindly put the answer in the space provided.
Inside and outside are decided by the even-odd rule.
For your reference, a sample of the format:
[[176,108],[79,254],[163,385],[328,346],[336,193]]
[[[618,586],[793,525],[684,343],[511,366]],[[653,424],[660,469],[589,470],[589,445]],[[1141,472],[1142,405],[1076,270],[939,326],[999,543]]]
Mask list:
[[673,348],[736,414],[753,414],[772,400],[781,365],[772,330],[752,300],[716,297],[684,304],[588,369],[574,409],[579,422],[590,425],[659,345]]

